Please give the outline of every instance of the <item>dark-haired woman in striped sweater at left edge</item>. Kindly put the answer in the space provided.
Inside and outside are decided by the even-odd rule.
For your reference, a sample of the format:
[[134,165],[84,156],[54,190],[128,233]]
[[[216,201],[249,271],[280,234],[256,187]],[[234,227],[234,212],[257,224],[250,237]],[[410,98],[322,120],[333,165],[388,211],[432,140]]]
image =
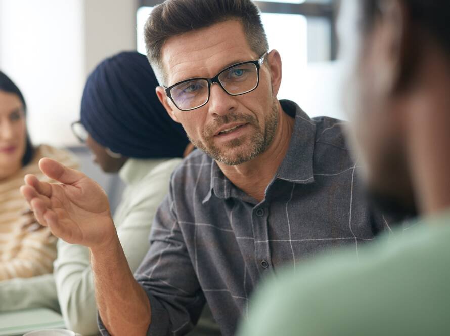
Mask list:
[[22,93],[0,71],[0,293],[4,280],[51,273],[56,258],[56,238],[35,222],[19,192],[24,176],[39,174],[38,161],[44,156],[76,166],[66,151],[33,147],[25,117]]

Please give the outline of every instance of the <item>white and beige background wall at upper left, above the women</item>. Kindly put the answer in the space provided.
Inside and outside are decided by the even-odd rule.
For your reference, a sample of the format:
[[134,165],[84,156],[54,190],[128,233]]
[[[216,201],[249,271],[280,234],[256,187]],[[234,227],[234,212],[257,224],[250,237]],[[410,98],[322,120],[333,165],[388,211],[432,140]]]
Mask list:
[[0,69],[25,96],[34,143],[76,144],[87,75],[136,49],[136,10],[137,0],[0,0]]

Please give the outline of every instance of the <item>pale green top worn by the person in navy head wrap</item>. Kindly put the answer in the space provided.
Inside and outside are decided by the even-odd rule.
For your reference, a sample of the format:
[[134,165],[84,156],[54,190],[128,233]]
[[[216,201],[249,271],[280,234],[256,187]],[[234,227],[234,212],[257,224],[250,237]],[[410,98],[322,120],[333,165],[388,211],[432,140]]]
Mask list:
[[[127,187],[114,214],[114,223],[132,272],[150,247],[153,217],[169,191],[170,175],[181,161],[128,159],[119,172]],[[54,275],[66,327],[84,336],[97,334],[97,305],[88,248],[59,240]]]

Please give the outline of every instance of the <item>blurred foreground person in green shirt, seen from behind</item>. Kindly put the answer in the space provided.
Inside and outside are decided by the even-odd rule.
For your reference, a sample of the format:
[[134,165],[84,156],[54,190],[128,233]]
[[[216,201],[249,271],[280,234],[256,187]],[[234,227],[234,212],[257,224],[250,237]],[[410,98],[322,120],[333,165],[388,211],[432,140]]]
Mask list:
[[386,211],[417,219],[359,262],[343,251],[273,279],[240,335],[450,334],[449,13],[448,0],[343,3],[346,108],[366,182]]

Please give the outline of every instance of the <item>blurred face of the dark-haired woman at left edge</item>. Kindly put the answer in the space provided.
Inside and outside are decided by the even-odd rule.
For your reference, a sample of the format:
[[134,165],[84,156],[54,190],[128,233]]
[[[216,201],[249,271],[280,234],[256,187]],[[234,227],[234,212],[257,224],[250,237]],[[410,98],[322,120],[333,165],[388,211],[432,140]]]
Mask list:
[[0,91],[0,180],[21,169],[26,134],[25,112],[20,98]]

